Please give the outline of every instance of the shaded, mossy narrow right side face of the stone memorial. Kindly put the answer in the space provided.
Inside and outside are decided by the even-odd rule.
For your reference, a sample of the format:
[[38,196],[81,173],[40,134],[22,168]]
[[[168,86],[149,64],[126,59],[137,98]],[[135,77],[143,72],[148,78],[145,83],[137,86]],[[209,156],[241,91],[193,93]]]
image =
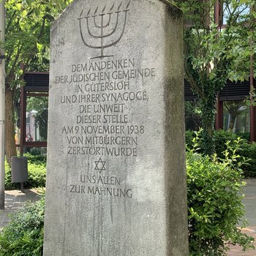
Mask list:
[[[168,44],[168,41],[165,41],[165,89],[164,89],[164,98],[165,98],[165,200],[166,200],[166,207],[167,207],[167,219],[166,219],[166,232],[167,232],[167,256],[187,256],[189,255],[189,244],[188,244],[188,228],[187,228],[187,172],[186,172],[186,151],[185,151],[185,127],[183,125],[182,132],[184,132],[184,135],[182,135],[182,138],[180,139],[180,143],[178,143],[178,139],[174,135],[175,128],[171,126],[171,121],[173,121],[173,118],[175,114],[173,112],[176,112],[176,110],[173,110],[170,105],[170,94],[173,94],[173,89],[170,88],[170,84],[173,84],[175,82],[175,79],[170,76],[170,72],[176,72],[178,68],[181,68],[180,72],[177,72],[178,75],[178,81],[181,82],[182,87],[180,90],[178,90],[178,96],[183,97],[184,96],[184,79],[183,75],[181,75],[182,72],[184,72],[184,64],[183,64],[183,52],[184,52],[184,44],[183,44],[183,13],[181,12],[178,7],[173,6],[173,4],[170,4],[166,0],[158,0],[165,3],[166,6],[166,20],[170,20],[171,23],[178,24],[178,28],[180,29],[180,35],[181,35],[181,48],[178,48],[178,44],[176,45],[176,48],[174,50],[178,50],[181,52],[181,62],[178,64],[178,67],[173,68],[170,67],[170,64],[168,59],[170,58],[170,44]],[[168,26],[170,23],[165,23],[166,26]],[[165,31],[168,32],[168,29],[165,28]],[[176,99],[176,97],[174,96]],[[178,104],[177,108],[181,108],[181,112],[178,116],[178,118],[183,118],[184,120],[184,99],[181,98],[181,104]],[[174,103],[178,103],[178,99],[175,100]],[[178,112],[177,112],[178,113]],[[171,120],[171,121],[170,121]],[[181,123],[182,121],[179,121]],[[182,123],[181,123],[182,124]],[[178,149],[181,149],[180,155],[178,159],[175,161],[175,165],[171,166],[173,157],[170,156],[170,148],[173,148],[174,145],[178,143]],[[184,147],[182,146],[184,144]],[[176,153],[178,154],[178,153]],[[179,162],[182,161],[182,162]],[[179,173],[178,167],[182,167],[182,173]],[[178,177],[179,182],[176,183],[176,181],[173,181],[171,178],[173,178],[169,172],[170,170],[173,171],[173,168],[175,168],[175,174],[174,177]],[[169,175],[168,175],[169,174]],[[173,190],[175,191],[173,194]],[[182,200],[178,200],[178,192],[181,192]],[[174,197],[172,197],[174,195]],[[171,200],[173,198],[173,200]],[[178,211],[173,209],[173,206],[181,206],[181,213],[184,213],[178,218]],[[168,210],[169,209],[169,210]],[[172,214],[174,213],[175,218],[173,219],[173,222],[170,220],[172,218]],[[178,223],[178,219],[181,219],[181,230],[178,230],[176,227],[176,224]],[[174,224],[174,229],[176,232],[173,232],[173,226],[171,224]],[[182,236],[182,232],[184,232],[184,235]],[[171,236],[168,236],[171,235]],[[172,240],[172,241],[170,241]]]

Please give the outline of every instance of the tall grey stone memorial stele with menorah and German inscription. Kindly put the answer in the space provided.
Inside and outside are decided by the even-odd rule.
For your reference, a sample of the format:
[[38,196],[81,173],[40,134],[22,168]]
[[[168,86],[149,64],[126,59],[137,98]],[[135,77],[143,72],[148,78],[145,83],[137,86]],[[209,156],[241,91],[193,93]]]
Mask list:
[[186,256],[182,14],[75,0],[50,42],[45,256]]

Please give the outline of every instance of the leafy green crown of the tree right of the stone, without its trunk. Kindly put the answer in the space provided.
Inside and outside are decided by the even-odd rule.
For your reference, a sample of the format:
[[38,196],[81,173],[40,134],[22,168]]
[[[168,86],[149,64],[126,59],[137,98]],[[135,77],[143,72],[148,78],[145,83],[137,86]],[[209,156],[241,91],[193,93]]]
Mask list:
[[[220,2],[223,4],[223,15],[228,25],[225,28],[215,24],[217,21],[214,20],[215,0],[179,3],[179,7],[184,11],[185,21],[191,21],[186,27],[189,33],[185,32],[184,38],[187,56],[192,58],[192,67],[197,72],[207,70],[208,74],[217,73],[219,67],[225,66],[226,71],[223,74],[227,78],[236,80],[246,74],[244,79],[248,79],[249,55],[255,53],[255,44],[251,44],[250,41],[252,34],[255,34],[255,29],[252,29],[256,26],[255,11],[253,11],[255,1],[222,0]],[[202,18],[208,20],[208,24]],[[247,69],[246,72],[244,69]],[[233,70],[240,74],[233,76],[231,72]],[[209,75],[209,78],[216,78],[216,75]]]

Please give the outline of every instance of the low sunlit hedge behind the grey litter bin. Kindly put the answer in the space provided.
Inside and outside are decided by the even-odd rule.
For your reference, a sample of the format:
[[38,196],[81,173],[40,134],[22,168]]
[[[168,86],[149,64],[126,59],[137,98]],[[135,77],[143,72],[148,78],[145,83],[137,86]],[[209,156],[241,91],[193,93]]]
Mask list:
[[[29,181],[24,183],[24,188],[31,189],[36,187],[45,187],[46,164],[45,162],[28,160]],[[19,189],[20,184],[12,183],[11,168],[5,163],[5,189]]]

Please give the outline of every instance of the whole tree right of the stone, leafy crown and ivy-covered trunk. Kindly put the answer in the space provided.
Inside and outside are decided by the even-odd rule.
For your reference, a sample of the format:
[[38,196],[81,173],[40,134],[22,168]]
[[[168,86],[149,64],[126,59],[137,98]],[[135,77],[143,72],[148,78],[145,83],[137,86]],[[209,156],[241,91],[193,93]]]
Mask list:
[[[215,20],[217,1],[177,1],[189,24],[184,28],[185,74],[199,99],[207,154],[214,152],[217,94],[227,79],[249,79],[249,57],[255,53],[255,0],[219,2],[224,18],[220,15]],[[225,27],[221,26],[222,20],[227,21]]]

